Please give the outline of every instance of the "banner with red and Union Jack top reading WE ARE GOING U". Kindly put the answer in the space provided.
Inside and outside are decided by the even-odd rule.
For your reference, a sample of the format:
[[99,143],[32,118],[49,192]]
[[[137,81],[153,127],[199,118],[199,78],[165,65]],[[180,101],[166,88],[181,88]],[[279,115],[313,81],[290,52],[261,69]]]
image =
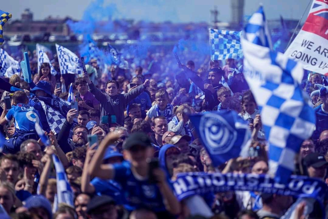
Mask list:
[[328,0],[314,0],[309,15],[285,52],[304,69],[328,73]]

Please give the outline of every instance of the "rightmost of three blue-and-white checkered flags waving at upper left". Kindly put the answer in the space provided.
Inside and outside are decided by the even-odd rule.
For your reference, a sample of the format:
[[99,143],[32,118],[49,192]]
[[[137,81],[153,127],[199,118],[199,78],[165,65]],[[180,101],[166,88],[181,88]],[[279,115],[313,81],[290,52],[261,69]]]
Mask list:
[[57,56],[58,56],[58,62],[59,62],[59,68],[60,68],[60,74],[75,74],[75,75],[81,75],[82,70],[82,64],[80,62],[80,58],[74,54],[69,49],[60,46],[56,44],[56,50],[57,50]]

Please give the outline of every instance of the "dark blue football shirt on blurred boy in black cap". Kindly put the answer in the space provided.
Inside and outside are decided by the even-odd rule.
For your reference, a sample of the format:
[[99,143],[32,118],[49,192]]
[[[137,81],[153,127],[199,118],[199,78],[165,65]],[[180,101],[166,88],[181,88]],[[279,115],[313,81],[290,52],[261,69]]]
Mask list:
[[115,169],[114,180],[121,184],[125,191],[125,199],[133,209],[147,208],[154,212],[165,211],[163,198],[156,184],[148,180],[137,179],[130,167],[130,163],[113,164]]

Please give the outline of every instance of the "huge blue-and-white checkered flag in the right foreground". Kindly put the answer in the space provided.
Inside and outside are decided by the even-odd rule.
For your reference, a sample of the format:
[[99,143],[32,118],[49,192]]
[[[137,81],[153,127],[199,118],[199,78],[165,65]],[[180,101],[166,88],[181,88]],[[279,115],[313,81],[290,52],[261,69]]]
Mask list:
[[269,143],[269,174],[286,183],[294,157],[315,128],[313,109],[303,99],[300,63],[271,50],[263,8],[249,20],[241,37],[244,75],[261,110]]

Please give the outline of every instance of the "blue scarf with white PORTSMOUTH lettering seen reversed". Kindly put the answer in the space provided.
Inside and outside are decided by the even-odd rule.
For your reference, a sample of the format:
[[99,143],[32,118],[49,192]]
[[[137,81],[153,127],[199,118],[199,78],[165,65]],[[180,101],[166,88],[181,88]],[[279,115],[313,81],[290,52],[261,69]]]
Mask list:
[[[225,191],[258,191],[264,193],[313,198],[320,203],[327,200],[327,185],[318,179],[291,175],[287,184],[278,184],[269,175],[189,172],[180,173],[172,182],[179,201],[193,195]],[[325,213],[324,213],[325,214]]]

